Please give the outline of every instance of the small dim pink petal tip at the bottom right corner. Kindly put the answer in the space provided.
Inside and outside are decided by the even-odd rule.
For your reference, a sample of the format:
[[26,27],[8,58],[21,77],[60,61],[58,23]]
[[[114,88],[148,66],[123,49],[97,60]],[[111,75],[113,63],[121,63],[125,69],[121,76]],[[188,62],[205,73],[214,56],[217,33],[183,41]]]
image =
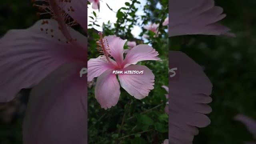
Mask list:
[[256,139],[256,121],[248,116],[238,114],[234,117],[235,120],[242,122],[246,128],[253,134]]

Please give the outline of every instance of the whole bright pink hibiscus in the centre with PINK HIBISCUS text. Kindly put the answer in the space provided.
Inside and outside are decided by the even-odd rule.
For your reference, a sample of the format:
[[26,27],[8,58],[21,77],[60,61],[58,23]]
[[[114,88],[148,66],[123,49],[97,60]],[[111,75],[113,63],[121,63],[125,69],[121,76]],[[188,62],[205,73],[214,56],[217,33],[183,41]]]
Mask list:
[[[119,74],[118,79],[126,92],[137,99],[148,96],[154,89],[154,74],[146,66],[136,65],[143,60],[159,60],[158,52],[151,46],[140,44],[132,48],[124,59],[124,44],[116,36],[105,36],[97,42],[99,52],[104,54],[88,61],[88,81],[98,77],[95,86],[95,98],[104,109],[115,106],[120,96],[120,86],[112,70],[144,70],[144,74]],[[110,56],[114,58],[111,59]]]

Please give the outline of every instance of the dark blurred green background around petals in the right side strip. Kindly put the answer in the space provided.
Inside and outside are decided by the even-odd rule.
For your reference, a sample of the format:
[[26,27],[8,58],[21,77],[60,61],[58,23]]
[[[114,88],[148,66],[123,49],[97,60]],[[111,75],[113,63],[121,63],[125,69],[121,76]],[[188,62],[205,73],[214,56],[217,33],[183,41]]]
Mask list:
[[170,50],[181,50],[198,64],[213,84],[211,124],[199,129],[193,144],[243,144],[256,141],[234,116],[256,120],[256,1],[215,0],[227,14],[221,24],[236,38],[227,36],[177,36]]

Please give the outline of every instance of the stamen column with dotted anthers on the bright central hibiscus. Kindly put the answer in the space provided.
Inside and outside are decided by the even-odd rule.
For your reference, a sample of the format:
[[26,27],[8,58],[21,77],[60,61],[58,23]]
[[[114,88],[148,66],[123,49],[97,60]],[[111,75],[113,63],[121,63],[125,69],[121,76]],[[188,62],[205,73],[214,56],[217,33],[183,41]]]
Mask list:
[[108,40],[103,39],[102,32],[99,32],[98,34],[100,35],[100,39],[97,39],[97,41],[96,41],[96,44],[98,45],[97,50],[100,54],[104,54],[104,56],[106,56],[108,63],[111,63],[111,61],[110,61],[111,51],[110,51],[110,48],[108,45]]

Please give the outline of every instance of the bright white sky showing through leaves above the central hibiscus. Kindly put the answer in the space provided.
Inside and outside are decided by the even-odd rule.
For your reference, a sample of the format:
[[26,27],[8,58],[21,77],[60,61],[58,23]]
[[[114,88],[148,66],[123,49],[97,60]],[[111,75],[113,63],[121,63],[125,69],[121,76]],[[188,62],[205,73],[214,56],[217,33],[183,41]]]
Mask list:
[[[146,0],[138,0],[138,1],[140,1],[141,4],[135,5],[135,7],[138,8],[138,11],[136,12],[136,14],[144,15],[143,7],[146,4]],[[121,7],[126,7],[125,2],[130,2],[130,0],[100,0],[100,12],[98,10],[92,9],[91,5],[88,5],[88,16],[94,17],[92,13],[94,11],[96,12],[98,18],[100,18],[98,19],[98,22],[97,22],[97,24],[100,25],[100,27],[94,26],[94,28],[98,31],[102,31],[103,22],[107,23],[108,20],[110,21],[110,23],[112,23],[112,26],[114,27],[114,23],[117,20],[115,12],[117,12],[117,10],[120,9]],[[110,6],[110,8],[114,10],[114,12],[108,8],[106,3],[108,4],[108,6]],[[160,7],[159,3],[157,7],[158,8]],[[89,22],[89,21],[94,21],[94,20],[88,17],[88,24],[91,24],[92,22]],[[139,38],[138,35],[141,32],[142,32],[142,28],[140,28],[139,26],[135,26],[134,29],[132,30],[132,34],[134,38]]]

